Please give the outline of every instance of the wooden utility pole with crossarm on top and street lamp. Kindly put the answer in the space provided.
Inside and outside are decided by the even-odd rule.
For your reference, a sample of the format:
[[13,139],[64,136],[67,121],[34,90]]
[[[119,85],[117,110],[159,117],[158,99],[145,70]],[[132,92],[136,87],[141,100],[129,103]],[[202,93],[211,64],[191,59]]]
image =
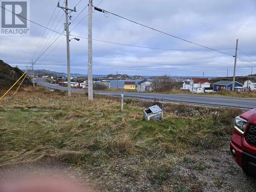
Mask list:
[[69,9],[68,8],[68,0],[65,1],[65,7],[59,6],[59,2],[57,5],[58,8],[61,8],[65,11],[66,13],[66,25],[65,25],[65,30],[66,30],[66,36],[67,36],[67,68],[68,68],[68,96],[71,97],[71,77],[70,77],[70,39],[69,39],[69,11],[74,11],[76,12],[76,8],[74,9]]

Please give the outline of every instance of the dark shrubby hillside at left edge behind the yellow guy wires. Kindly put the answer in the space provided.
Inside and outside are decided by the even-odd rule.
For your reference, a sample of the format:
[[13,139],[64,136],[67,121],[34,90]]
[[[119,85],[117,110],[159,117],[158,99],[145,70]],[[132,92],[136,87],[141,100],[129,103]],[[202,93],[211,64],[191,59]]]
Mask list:
[[[0,90],[6,90],[10,88],[13,83],[18,80],[20,76],[23,75],[23,71],[17,67],[13,68],[5,63],[3,60],[0,60]],[[29,77],[23,82],[24,84],[31,84]]]

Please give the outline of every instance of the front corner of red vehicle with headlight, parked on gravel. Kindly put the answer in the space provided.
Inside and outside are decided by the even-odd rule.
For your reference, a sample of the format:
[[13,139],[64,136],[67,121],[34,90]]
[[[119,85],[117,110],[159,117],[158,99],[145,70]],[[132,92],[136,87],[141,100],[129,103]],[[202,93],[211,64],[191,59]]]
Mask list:
[[230,152],[244,173],[256,176],[256,109],[234,120]]

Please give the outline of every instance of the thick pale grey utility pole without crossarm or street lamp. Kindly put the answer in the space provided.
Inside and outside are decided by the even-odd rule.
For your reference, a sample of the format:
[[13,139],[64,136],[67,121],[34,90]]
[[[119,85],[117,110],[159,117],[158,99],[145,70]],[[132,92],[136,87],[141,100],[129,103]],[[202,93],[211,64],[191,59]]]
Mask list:
[[93,31],[92,31],[92,19],[93,19],[93,0],[89,0],[88,5],[88,99],[93,100]]

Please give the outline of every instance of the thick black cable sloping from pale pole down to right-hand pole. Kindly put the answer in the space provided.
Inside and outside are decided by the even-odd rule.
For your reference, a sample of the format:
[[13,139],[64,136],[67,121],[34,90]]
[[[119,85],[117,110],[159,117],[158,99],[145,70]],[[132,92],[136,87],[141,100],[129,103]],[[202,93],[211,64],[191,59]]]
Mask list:
[[184,39],[184,38],[181,38],[181,37],[178,37],[178,36],[175,36],[175,35],[169,34],[169,33],[165,33],[165,32],[163,32],[163,31],[160,31],[160,30],[158,30],[158,29],[155,29],[155,28],[152,28],[152,27],[146,26],[146,25],[144,25],[144,24],[141,24],[141,23],[135,22],[134,20],[131,20],[131,19],[129,19],[129,18],[125,18],[125,17],[123,17],[123,16],[121,16],[121,15],[118,15],[118,14],[112,13],[112,12],[110,12],[110,11],[106,11],[106,10],[99,9],[99,8],[97,8],[97,9],[98,9],[99,11],[101,10],[101,12],[104,12],[104,13],[110,13],[110,14],[112,14],[112,15],[115,15],[115,16],[117,16],[117,17],[123,18],[123,19],[125,19],[125,20],[128,20],[129,22],[132,22],[132,23],[135,23],[135,24],[137,24],[137,25],[140,25],[140,26],[146,27],[146,28],[148,28],[148,29],[152,29],[152,30],[157,31],[157,32],[160,32],[160,33],[162,33],[162,34],[165,34],[165,35],[168,35],[168,36],[171,36],[171,37],[174,37],[174,38],[177,38],[177,39],[180,39],[180,40],[183,40],[183,41],[189,42],[190,44],[194,44],[194,45],[197,45],[197,46],[200,46],[200,47],[206,48],[206,49],[210,49],[210,50],[212,50],[212,51],[217,51],[217,52],[220,52],[220,53],[223,53],[223,54],[229,55],[229,56],[233,56],[233,55],[231,55],[231,54],[229,54],[229,53],[225,53],[225,52],[222,52],[222,51],[218,51],[218,50],[216,50],[216,49],[212,49],[212,48],[209,48],[209,47],[206,47],[206,46],[203,46],[203,45],[197,44],[196,42],[189,41],[189,40],[186,40],[186,39]]

